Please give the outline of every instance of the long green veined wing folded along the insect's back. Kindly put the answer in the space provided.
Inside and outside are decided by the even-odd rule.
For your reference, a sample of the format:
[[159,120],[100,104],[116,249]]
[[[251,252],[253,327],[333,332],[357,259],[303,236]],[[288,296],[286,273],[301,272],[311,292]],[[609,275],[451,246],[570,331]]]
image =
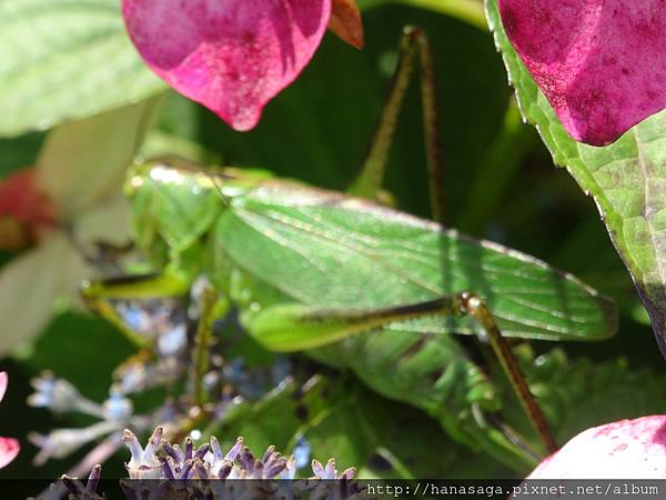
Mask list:
[[[389,308],[472,290],[511,337],[597,340],[616,330],[615,306],[571,274],[339,193],[266,182],[232,201],[215,239],[236,266],[312,307]],[[453,317],[390,328],[478,331]]]

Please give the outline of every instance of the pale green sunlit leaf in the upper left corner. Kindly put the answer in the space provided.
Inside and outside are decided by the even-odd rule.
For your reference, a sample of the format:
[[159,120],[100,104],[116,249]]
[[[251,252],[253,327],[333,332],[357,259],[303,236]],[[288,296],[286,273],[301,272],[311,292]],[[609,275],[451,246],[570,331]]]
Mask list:
[[132,47],[120,0],[4,0],[0,19],[0,136],[97,114],[164,89]]

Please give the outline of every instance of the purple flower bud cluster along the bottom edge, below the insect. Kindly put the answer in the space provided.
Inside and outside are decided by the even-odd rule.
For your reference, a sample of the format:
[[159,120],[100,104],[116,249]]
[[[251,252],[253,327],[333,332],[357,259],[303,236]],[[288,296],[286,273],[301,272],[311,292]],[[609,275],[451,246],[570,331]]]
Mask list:
[[[260,459],[244,444],[243,438],[238,438],[226,452],[214,437],[199,447],[194,447],[190,438],[182,447],[172,444],[164,439],[162,427],[154,430],[145,447],[127,429],[123,441],[131,453],[130,461],[125,463],[130,479],[122,480],[120,484],[129,500],[295,500],[305,492],[309,498],[315,499],[361,498],[361,490],[350,482],[355,469],[337,472],[334,459],[329,460],[325,467],[313,460],[313,477],[289,481],[295,479],[296,473],[293,457],[284,457],[271,446]],[[62,486],[70,499],[102,500],[104,494],[98,491],[100,480],[101,466],[98,464],[85,484],[63,476]]]

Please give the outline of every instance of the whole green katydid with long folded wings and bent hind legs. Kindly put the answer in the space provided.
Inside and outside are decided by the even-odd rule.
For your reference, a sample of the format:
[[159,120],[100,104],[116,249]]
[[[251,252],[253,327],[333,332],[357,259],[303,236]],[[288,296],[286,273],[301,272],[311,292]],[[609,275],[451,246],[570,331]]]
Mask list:
[[458,440],[521,463],[529,459],[522,440],[494,419],[502,407],[495,384],[447,333],[487,337],[552,449],[502,334],[599,340],[616,329],[615,307],[537,259],[361,198],[380,198],[395,120],[418,59],[432,204],[441,219],[430,51],[414,29],[402,48],[354,196],[263,171],[173,161],[135,166],[127,183],[134,242],[158,273],[87,283],[83,294],[120,324],[105,299],[183,294],[204,274],[225,310],[238,308],[245,330],[268,349],[307,350],[350,368],[384,396],[424,409]]

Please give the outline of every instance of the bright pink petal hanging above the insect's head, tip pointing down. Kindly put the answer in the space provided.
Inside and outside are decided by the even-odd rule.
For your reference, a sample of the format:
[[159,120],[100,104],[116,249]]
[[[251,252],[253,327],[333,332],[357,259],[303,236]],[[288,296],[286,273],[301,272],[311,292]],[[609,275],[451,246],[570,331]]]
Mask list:
[[331,0],[123,0],[122,11],[155,73],[250,130],[312,58]]

